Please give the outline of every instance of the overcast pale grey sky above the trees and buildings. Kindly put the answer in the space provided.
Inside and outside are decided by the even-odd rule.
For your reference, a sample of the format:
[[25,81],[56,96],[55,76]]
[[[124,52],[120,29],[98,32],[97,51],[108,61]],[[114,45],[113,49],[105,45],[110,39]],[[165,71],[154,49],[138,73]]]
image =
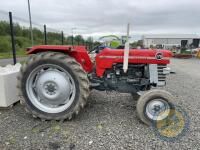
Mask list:
[[[30,0],[33,22],[70,34],[200,34],[200,0]],[[1,0],[0,10],[28,20],[27,0]]]

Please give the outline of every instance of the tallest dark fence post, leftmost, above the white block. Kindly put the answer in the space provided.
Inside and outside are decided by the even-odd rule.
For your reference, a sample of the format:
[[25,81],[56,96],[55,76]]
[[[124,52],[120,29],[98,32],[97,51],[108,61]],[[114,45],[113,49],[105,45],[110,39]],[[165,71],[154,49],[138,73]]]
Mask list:
[[10,36],[11,36],[11,41],[12,41],[13,63],[15,65],[17,63],[17,59],[16,59],[16,48],[15,48],[12,12],[9,12],[9,19],[10,19]]

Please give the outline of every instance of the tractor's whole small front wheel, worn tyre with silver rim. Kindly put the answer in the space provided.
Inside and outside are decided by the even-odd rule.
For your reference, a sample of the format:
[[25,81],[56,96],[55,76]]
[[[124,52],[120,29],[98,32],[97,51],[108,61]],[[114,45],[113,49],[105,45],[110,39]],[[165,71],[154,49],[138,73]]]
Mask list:
[[167,91],[151,90],[142,95],[137,102],[137,114],[142,122],[152,125],[174,114],[174,97]]

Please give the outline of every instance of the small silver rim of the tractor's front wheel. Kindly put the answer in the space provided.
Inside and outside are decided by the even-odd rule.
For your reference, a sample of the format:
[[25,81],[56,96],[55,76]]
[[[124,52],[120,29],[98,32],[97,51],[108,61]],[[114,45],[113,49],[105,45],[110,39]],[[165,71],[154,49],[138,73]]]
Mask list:
[[169,116],[169,113],[170,105],[162,99],[152,100],[146,105],[146,115],[151,120],[163,120]]

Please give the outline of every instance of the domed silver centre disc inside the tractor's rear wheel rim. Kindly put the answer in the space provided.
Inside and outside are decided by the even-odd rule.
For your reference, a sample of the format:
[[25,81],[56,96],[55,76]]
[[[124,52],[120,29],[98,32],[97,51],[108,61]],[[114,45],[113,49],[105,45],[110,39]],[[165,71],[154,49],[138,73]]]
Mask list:
[[47,70],[38,76],[37,94],[41,102],[51,105],[65,104],[73,92],[69,77],[58,70]]

